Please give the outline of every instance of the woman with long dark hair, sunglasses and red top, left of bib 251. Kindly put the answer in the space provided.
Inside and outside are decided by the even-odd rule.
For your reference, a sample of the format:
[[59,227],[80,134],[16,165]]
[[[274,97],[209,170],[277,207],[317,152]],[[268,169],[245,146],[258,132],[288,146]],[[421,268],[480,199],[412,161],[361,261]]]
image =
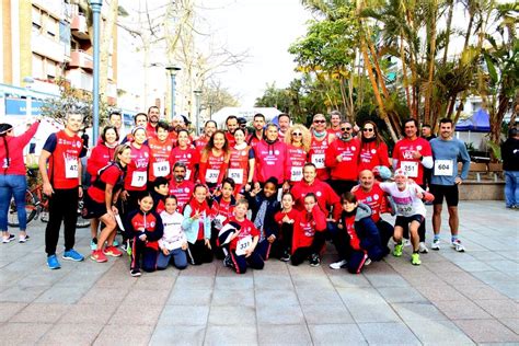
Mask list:
[[380,137],[377,125],[373,122],[366,122],[362,126],[360,137],[360,155],[358,172],[364,170],[372,171],[378,165],[390,166],[388,146]]

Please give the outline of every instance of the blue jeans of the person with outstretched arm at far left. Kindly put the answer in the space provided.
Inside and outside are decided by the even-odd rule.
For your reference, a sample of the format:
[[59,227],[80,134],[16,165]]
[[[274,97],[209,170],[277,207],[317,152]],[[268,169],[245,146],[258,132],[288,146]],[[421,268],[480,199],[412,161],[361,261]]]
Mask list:
[[25,175],[0,175],[0,230],[8,230],[8,212],[11,197],[14,196],[18,209],[20,230],[27,228],[27,212],[25,211]]

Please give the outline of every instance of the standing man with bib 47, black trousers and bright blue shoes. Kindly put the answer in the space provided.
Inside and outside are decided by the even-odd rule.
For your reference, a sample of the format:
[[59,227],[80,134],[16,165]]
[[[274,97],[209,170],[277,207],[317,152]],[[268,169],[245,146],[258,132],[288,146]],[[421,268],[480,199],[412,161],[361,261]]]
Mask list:
[[[83,261],[84,256],[74,249],[76,222],[78,220],[78,200],[83,196],[81,186],[81,152],[82,141],[78,131],[83,123],[79,113],[67,114],[64,130],[51,134],[39,155],[39,173],[42,174],[43,192],[49,198],[49,220],[45,229],[45,252],[50,269],[59,269],[56,247],[59,229],[64,221],[65,252],[64,260]],[[47,171],[48,161],[48,171]]]

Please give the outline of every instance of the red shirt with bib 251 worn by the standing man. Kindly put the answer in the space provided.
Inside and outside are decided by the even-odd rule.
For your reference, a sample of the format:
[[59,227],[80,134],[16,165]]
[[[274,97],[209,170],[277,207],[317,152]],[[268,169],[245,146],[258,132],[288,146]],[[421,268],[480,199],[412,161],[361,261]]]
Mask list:
[[414,140],[408,138],[399,140],[394,146],[393,159],[399,160],[397,169],[403,169],[408,177],[422,185],[424,184],[424,166],[420,160],[413,158],[413,151],[419,151],[423,157],[432,155],[429,142],[417,137]]

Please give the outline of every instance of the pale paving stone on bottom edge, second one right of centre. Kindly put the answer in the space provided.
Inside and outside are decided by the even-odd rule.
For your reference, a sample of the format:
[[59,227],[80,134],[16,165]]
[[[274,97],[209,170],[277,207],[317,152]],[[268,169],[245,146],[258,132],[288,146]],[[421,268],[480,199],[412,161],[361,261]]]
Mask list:
[[309,324],[314,345],[367,345],[357,324]]

